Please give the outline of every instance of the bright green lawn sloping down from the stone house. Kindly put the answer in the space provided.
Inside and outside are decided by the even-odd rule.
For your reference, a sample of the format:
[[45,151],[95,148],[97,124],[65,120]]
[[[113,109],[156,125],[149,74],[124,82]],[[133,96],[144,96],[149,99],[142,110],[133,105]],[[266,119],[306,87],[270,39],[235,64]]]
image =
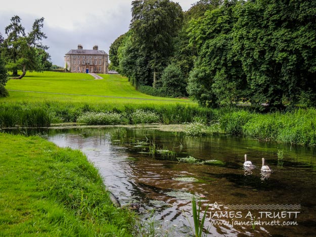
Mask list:
[[100,74],[96,80],[85,73],[28,72],[22,80],[9,80],[10,97],[0,101],[67,101],[117,104],[195,104],[189,100],[153,97],[130,85],[126,77]]

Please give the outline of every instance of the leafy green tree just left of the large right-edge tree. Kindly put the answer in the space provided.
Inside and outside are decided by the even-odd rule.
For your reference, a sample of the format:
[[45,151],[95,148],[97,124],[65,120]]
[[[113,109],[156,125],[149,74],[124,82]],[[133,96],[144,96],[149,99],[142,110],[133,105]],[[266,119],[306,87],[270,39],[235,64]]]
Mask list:
[[219,8],[190,23],[189,42],[195,45],[198,57],[190,73],[188,92],[204,106],[230,104],[244,92],[245,76],[232,50],[236,3],[224,1]]

